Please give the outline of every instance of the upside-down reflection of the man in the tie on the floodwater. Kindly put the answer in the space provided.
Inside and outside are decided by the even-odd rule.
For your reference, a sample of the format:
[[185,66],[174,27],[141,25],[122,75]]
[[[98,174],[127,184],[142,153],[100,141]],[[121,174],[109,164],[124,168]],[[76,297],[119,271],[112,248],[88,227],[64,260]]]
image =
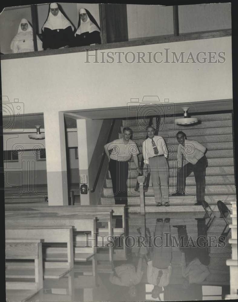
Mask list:
[[[148,283],[155,285],[155,291],[158,287],[167,286],[171,276],[171,244],[170,244],[170,218],[157,219],[155,227],[153,252],[150,253],[150,259],[147,262],[147,280]],[[160,237],[159,237],[160,236]],[[159,240],[160,239],[160,240]],[[161,240],[162,239],[162,240]]]

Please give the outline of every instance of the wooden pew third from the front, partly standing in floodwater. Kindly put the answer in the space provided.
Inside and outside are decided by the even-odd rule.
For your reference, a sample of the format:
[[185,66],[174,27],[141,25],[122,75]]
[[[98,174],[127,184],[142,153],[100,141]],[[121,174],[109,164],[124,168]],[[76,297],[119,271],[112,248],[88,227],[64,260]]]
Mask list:
[[[51,213],[49,213],[51,214]],[[96,240],[96,222],[92,215],[47,215],[42,213],[21,214],[21,215],[6,215],[5,228],[20,228],[20,227],[43,227],[47,226],[73,226],[73,232],[90,232],[89,239],[94,242]],[[80,247],[74,250],[75,261],[86,261],[96,252],[96,247]],[[47,248],[46,260],[49,261],[67,261],[67,248]]]

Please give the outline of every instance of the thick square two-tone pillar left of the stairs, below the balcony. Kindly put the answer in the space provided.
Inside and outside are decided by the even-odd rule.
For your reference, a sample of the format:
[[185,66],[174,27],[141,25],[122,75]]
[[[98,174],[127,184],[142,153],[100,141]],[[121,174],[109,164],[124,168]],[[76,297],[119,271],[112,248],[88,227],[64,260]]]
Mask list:
[[44,112],[44,130],[49,206],[68,205],[64,114]]

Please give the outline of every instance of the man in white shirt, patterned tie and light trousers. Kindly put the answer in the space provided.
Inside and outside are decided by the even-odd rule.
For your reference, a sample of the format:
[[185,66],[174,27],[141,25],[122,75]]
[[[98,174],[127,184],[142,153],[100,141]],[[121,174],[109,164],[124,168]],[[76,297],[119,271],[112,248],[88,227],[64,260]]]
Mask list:
[[163,137],[155,135],[155,128],[146,128],[148,138],[142,144],[144,169],[150,171],[157,206],[169,207],[168,151]]

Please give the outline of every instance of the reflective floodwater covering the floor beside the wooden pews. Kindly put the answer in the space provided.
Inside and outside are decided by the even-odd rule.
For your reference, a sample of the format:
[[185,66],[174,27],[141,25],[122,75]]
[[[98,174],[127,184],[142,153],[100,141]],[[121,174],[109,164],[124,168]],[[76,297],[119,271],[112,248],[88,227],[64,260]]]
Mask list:
[[230,291],[231,235],[216,215],[129,214],[111,262],[109,248],[97,248],[60,279],[45,279],[27,301],[222,300]]

